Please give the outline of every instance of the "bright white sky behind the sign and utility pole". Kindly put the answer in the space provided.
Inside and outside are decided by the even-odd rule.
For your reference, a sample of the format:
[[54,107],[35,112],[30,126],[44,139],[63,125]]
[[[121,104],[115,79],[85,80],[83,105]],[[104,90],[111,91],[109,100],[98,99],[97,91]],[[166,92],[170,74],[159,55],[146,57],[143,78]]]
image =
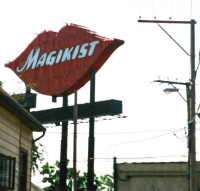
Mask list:
[[[138,23],[142,19],[181,20],[195,19],[196,66],[199,60],[199,7],[198,0],[8,0],[0,1],[0,80],[9,93],[23,90],[16,83],[15,74],[4,67],[15,59],[36,34],[44,29],[58,31],[64,23],[88,27],[99,35],[125,41],[108,59],[96,75],[96,101],[117,99],[123,101],[126,119],[113,119],[95,124],[95,172],[112,172],[112,158],[118,162],[186,161],[187,160],[187,107],[176,93],[166,96],[167,84],[154,80],[188,82],[190,58],[157,24]],[[190,53],[190,25],[161,24],[161,26]],[[196,80],[196,108],[199,76]],[[183,86],[180,93],[185,96]],[[74,96],[69,96],[73,105]],[[51,97],[38,95],[37,109],[60,107]],[[78,91],[78,103],[89,102],[89,83]],[[197,159],[200,148],[199,119],[196,119]],[[77,168],[87,171],[87,144],[89,124],[78,125]],[[54,132],[54,133],[53,133]],[[69,126],[68,158],[73,156],[73,126]],[[35,134],[39,136],[40,134]],[[45,161],[54,164],[60,155],[60,128],[49,128],[40,141],[46,147]],[[124,144],[122,144],[124,143]],[[166,156],[166,157],[162,157]],[[185,157],[183,157],[185,156]],[[150,157],[150,158],[148,158]],[[130,159],[128,159],[130,158]],[[70,164],[72,166],[72,163]],[[34,178],[41,183],[41,177]]]

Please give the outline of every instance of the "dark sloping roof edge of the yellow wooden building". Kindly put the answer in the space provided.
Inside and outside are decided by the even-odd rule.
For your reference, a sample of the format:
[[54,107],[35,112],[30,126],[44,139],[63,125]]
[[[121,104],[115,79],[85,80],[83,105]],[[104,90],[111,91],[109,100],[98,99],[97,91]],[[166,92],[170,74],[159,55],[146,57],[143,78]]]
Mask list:
[[18,117],[32,131],[45,131],[42,124],[0,87],[0,106]]

